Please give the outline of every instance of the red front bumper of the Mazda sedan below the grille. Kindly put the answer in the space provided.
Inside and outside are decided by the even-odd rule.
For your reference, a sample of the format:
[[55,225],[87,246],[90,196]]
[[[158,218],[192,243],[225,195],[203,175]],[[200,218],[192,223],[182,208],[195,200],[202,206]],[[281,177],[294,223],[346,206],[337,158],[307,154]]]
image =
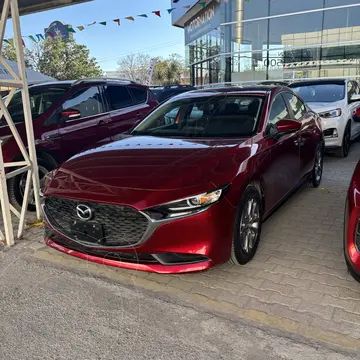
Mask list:
[[[223,198],[201,213],[162,222],[144,243],[121,248],[88,247],[60,234],[47,220],[45,242],[68,255],[119,268],[162,274],[202,271],[229,259],[234,217],[235,208]],[[181,261],[172,261],[169,254],[178,254]]]

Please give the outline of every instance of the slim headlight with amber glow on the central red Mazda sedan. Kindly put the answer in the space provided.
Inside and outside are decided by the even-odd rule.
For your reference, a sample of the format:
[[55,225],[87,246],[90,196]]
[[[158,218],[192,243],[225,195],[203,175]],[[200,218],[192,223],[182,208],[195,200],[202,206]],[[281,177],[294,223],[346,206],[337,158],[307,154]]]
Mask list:
[[228,186],[156,206],[147,211],[156,220],[192,215],[218,202]]

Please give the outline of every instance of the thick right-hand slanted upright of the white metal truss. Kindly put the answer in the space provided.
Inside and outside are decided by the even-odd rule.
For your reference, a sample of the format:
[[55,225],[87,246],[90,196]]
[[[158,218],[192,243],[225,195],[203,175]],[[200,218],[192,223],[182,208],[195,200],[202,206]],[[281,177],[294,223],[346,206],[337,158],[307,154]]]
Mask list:
[[[35,141],[34,141],[34,128],[33,128],[32,115],[31,115],[29,88],[26,77],[24,50],[22,45],[22,37],[21,37],[21,29],[20,29],[20,14],[19,14],[18,0],[10,0],[10,6],[11,6],[11,17],[14,28],[16,58],[19,67],[19,75],[23,83],[21,95],[22,95],[22,101],[24,107],[28,150],[29,150],[30,161],[33,170],[32,182],[33,182],[34,197],[36,204],[36,216],[37,219],[39,220],[41,217],[40,196],[39,196],[39,190],[40,190],[39,172],[38,172],[37,156],[36,156]],[[23,205],[23,206],[27,206],[27,205]]]

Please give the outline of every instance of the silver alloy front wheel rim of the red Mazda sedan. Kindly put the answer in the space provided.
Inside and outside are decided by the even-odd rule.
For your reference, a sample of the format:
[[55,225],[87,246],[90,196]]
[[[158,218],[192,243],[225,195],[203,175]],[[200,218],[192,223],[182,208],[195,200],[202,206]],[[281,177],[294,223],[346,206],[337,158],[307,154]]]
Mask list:
[[256,199],[250,198],[241,214],[240,241],[241,247],[249,253],[256,243],[260,228],[260,206]]

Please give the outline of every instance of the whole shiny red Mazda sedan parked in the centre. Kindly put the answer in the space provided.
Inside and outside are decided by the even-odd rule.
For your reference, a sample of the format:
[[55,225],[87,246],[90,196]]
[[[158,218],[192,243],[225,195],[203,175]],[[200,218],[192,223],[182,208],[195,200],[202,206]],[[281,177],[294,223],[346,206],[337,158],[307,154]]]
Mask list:
[[266,217],[301,183],[319,186],[319,117],[286,87],[192,91],[46,180],[46,243],[158,273],[255,255]]

